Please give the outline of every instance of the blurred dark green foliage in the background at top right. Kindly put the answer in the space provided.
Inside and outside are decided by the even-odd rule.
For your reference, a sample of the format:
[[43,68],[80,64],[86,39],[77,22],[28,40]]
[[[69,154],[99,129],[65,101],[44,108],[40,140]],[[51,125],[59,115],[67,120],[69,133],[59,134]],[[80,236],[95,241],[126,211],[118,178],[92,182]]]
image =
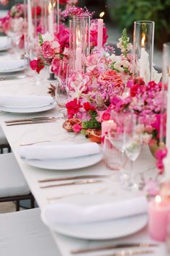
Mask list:
[[170,0],[119,0],[112,9],[112,17],[128,29],[133,27],[135,20],[153,20],[156,38],[166,33],[169,36],[166,40],[170,39]]

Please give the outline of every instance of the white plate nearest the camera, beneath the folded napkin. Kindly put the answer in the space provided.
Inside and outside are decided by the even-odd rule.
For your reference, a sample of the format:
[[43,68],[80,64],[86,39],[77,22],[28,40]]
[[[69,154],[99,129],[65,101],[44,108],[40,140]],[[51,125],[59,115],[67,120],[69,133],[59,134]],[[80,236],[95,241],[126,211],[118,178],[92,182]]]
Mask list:
[[96,223],[84,223],[76,225],[57,224],[50,226],[45,216],[41,216],[42,221],[55,232],[66,236],[72,236],[79,239],[116,239],[133,234],[143,229],[148,222],[146,214],[132,216],[129,218],[120,218],[113,221],[104,221]]

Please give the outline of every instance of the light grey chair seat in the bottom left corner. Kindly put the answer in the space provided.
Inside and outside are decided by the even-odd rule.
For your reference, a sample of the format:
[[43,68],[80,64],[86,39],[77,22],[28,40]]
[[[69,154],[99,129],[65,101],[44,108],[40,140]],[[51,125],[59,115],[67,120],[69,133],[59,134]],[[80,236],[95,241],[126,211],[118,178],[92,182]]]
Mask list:
[[61,256],[40,209],[0,214],[1,256]]

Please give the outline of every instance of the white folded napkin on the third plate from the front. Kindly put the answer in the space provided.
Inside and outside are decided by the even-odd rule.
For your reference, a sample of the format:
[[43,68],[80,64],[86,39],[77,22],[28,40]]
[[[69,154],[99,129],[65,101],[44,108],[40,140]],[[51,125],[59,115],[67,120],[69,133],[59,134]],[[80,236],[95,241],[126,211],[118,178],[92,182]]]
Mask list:
[[50,96],[12,96],[0,95],[0,106],[5,108],[41,108],[53,103],[53,97]]

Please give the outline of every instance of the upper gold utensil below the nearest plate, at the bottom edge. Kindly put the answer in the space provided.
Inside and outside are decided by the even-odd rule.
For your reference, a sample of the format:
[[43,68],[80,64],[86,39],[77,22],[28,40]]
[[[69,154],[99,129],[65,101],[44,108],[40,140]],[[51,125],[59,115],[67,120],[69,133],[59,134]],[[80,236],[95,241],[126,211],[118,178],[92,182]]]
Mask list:
[[149,243],[123,243],[123,244],[111,244],[104,245],[103,247],[91,247],[91,248],[82,248],[82,249],[72,249],[71,254],[76,255],[79,253],[85,252],[97,252],[104,251],[106,249],[118,249],[118,248],[128,248],[128,247],[157,247],[158,244],[149,244]]

